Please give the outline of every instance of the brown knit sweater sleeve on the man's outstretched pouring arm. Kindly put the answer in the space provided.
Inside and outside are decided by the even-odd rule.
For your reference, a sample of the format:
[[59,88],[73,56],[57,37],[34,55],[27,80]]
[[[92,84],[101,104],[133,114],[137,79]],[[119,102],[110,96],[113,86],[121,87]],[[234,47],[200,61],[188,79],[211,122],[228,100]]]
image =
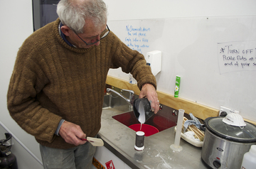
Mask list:
[[144,55],[137,50],[130,49],[114,33],[111,34],[111,46],[114,49],[112,67],[122,67],[123,72],[130,72],[137,80],[139,89],[142,89],[142,85],[146,83],[153,84],[156,88],[156,78],[151,73],[151,67],[146,65]]

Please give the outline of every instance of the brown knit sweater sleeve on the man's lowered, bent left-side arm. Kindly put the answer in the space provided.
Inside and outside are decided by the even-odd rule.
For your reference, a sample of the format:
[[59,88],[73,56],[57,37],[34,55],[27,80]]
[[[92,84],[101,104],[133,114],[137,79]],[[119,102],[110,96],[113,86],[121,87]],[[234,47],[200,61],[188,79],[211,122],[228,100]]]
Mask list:
[[38,63],[29,57],[33,54],[26,47],[18,51],[7,94],[8,109],[22,129],[40,140],[51,142],[62,118],[38,101],[37,96],[47,87],[48,79]]

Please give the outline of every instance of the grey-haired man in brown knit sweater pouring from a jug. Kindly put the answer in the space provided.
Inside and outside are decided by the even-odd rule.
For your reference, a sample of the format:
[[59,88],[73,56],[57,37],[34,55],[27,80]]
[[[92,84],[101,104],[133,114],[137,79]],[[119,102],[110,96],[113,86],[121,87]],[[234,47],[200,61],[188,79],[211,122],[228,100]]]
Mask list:
[[131,72],[139,97],[159,110],[156,80],[144,56],[107,26],[102,0],[61,0],[59,18],[18,51],[7,95],[13,119],[40,143],[44,168],[90,168],[110,68]]

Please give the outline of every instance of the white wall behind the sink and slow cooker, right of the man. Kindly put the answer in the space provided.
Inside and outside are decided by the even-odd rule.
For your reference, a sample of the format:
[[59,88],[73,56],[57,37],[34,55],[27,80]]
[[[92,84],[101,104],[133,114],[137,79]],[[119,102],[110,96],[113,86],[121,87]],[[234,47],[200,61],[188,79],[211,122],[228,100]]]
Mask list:
[[[159,91],[174,94],[175,77],[180,75],[179,97],[215,109],[229,107],[256,121],[256,71],[220,75],[217,49],[217,43],[256,40],[256,1],[106,2],[110,30],[121,40],[129,38],[125,26],[142,26],[157,33],[146,37],[151,38],[150,47],[142,53],[162,51],[162,71],[156,75]],[[109,75],[129,80],[120,69],[110,70]]]

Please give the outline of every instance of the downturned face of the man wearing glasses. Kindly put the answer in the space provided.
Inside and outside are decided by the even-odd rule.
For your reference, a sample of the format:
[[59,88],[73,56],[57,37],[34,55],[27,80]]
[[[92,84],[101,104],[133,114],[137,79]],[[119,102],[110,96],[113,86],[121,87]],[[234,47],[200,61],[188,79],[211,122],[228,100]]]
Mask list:
[[[103,31],[105,31],[107,24],[103,24],[102,28],[98,29],[100,31],[96,31],[94,24],[92,23],[91,20],[87,19],[86,21],[86,26],[84,27],[84,32],[83,33],[78,33],[75,34],[74,31],[70,31],[70,36],[67,37],[67,39],[75,45],[78,48],[90,48],[93,45],[100,45],[100,41],[95,43],[97,40],[100,40],[100,35],[102,34]],[[84,40],[87,44],[89,43],[95,43],[92,45],[86,45],[82,40]]]

